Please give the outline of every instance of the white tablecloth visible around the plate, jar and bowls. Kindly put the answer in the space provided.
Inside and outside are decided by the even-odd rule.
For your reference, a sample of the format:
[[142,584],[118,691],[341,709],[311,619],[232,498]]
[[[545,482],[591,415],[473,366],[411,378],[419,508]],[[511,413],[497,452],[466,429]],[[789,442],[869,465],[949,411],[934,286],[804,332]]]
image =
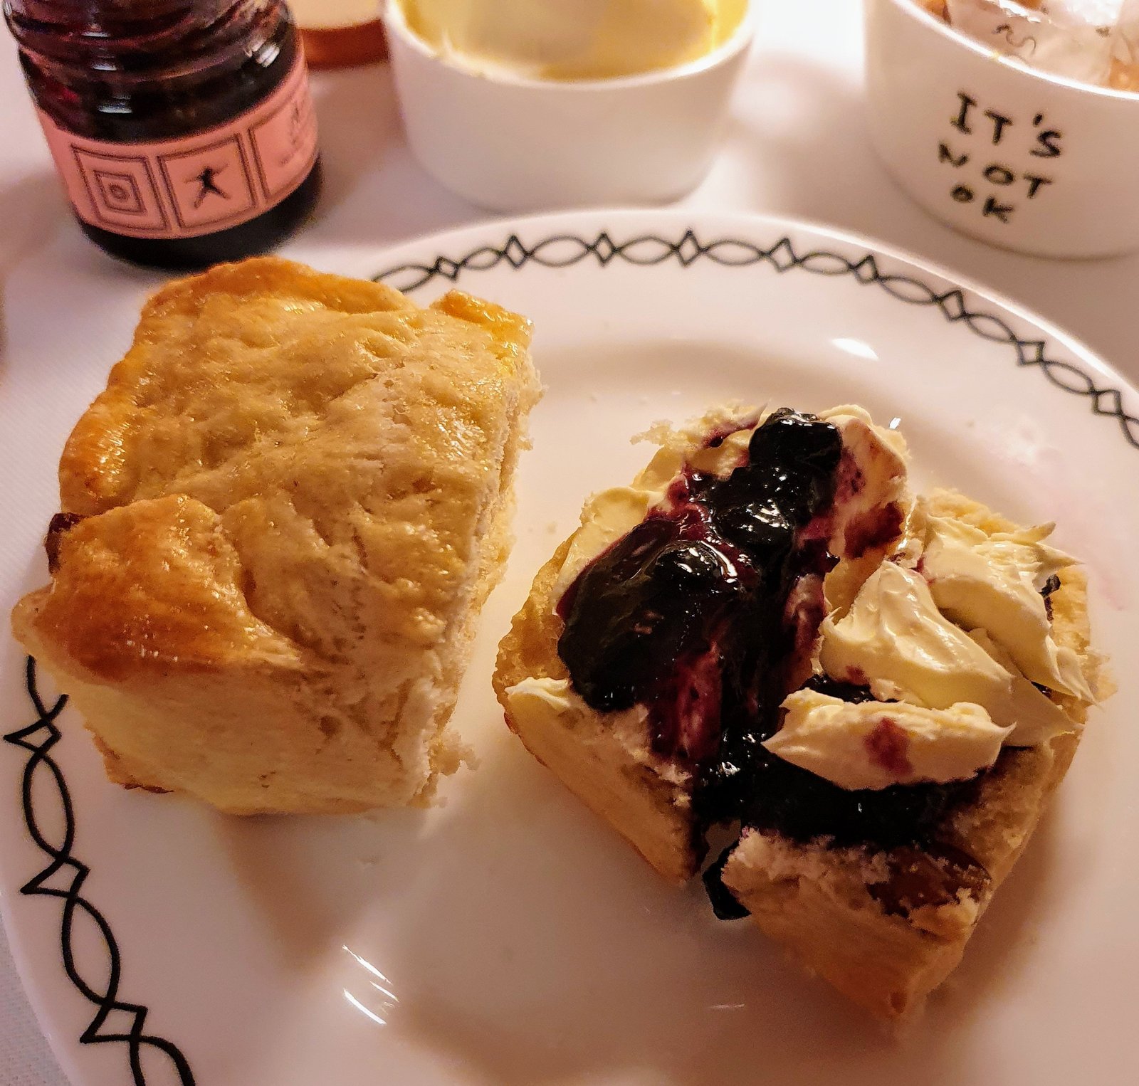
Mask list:
[[[795,215],[865,232],[932,257],[1073,332],[1133,382],[1130,321],[1139,256],[1056,262],[960,237],[929,219],[886,178],[867,143],[861,6],[855,0],[755,0],[760,27],[723,153],[686,206]],[[0,287],[46,256],[66,299],[74,269],[104,261],[83,239],[51,176],[15,48],[0,56]],[[284,249],[320,263],[336,246],[376,249],[485,217],[440,188],[410,157],[384,66],[314,76],[326,167],[318,220]],[[115,265],[106,260],[108,273]],[[108,274],[107,290],[115,289]],[[0,321],[2,329],[2,321]],[[109,362],[110,360],[108,360]],[[2,395],[2,385],[0,385]],[[0,816],[14,816],[11,812]],[[65,1086],[23,996],[0,933],[0,1083]],[[204,1084],[207,1086],[207,1084]]]

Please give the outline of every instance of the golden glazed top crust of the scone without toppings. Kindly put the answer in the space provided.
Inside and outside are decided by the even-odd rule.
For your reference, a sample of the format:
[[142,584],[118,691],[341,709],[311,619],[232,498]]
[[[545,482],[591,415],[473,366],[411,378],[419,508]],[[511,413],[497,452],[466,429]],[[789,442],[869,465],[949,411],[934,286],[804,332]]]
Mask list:
[[[67,442],[63,509],[120,512],[106,528],[80,525],[76,543],[106,530],[98,548],[65,536],[63,612],[48,601],[40,624],[108,675],[172,658],[208,666],[236,625],[243,644],[276,631],[277,651],[364,651],[396,670],[394,645],[443,633],[484,512],[484,453],[502,439],[503,381],[527,340],[522,319],[465,295],[421,310],[279,260],[172,283]],[[154,501],[170,495],[183,500]],[[227,562],[239,591],[223,602]],[[170,570],[186,593],[174,612],[227,622],[199,630],[172,615],[156,652],[114,636],[140,616],[158,622]],[[99,582],[103,606],[79,606]],[[341,622],[329,624],[329,606]]]

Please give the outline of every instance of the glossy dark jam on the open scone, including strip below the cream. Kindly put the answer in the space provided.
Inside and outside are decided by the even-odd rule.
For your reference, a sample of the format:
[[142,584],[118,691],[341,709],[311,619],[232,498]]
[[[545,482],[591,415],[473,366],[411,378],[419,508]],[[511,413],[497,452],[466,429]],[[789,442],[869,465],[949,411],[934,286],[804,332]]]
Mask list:
[[[769,752],[823,617],[838,430],[775,412],[727,478],[686,470],[663,508],[599,554],[562,601],[558,652],[599,711],[648,710],[654,748],[695,774],[716,823],[891,849],[932,839],[976,780],[850,791]],[[812,678],[849,701],[868,689]],[[714,880],[713,880],[714,881]]]

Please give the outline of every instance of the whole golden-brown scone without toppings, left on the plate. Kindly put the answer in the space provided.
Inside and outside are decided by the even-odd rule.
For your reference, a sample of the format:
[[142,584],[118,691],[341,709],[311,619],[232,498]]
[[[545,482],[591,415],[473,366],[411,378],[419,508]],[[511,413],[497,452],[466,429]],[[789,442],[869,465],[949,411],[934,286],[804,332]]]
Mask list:
[[112,780],[226,812],[421,804],[510,545],[530,324],[287,261],[147,302],[13,628]]

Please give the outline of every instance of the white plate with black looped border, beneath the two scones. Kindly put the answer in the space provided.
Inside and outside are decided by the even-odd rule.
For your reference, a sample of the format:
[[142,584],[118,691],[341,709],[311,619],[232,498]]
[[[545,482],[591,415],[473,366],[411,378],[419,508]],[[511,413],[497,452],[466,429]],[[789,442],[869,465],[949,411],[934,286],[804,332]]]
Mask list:
[[[458,283],[535,321],[548,393],[518,483],[518,542],[454,717],[482,764],[444,782],[444,805],[426,813],[227,818],[109,785],[69,710],[35,724],[10,647],[5,920],[74,1081],[1130,1080],[1136,393],[991,296],[865,240],[775,220],[582,213],[325,263],[390,272],[421,302]],[[23,449],[18,470],[54,464],[121,344],[96,347],[40,412],[15,369],[0,437]],[[495,642],[582,497],[644,461],[630,436],[729,397],[857,401],[901,419],[919,482],[1058,520],[1058,543],[1088,561],[1097,641],[1117,661],[1120,693],[1096,714],[1054,811],[901,1044],[749,924],[713,920],[698,885],[663,885],[523,751],[490,691]],[[44,491],[5,510],[5,604],[44,577]]]

